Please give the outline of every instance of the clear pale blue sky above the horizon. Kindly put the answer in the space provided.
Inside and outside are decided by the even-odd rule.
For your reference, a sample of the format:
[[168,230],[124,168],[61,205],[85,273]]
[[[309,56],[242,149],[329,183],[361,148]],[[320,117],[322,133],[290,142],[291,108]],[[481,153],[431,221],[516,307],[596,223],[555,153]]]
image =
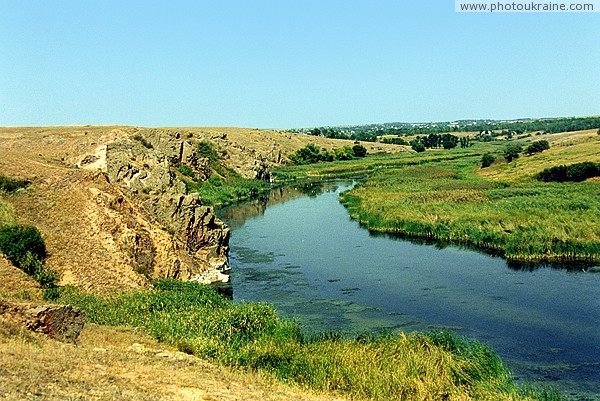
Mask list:
[[0,126],[600,114],[600,13],[453,0],[0,0]]

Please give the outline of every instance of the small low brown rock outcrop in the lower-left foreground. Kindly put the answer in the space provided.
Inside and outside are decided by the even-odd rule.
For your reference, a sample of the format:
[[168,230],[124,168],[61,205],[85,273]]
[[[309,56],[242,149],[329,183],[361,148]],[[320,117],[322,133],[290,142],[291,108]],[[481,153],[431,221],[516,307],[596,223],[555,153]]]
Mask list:
[[71,305],[33,305],[0,300],[0,315],[59,341],[75,341],[85,324],[85,313]]

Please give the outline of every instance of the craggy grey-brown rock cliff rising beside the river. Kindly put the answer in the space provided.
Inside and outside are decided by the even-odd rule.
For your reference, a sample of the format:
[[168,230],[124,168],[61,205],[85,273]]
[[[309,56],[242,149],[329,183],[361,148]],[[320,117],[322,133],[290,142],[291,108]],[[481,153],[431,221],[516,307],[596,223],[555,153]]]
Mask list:
[[208,160],[177,132],[147,131],[106,148],[106,176],[123,193],[108,200],[124,222],[113,237],[148,276],[228,281],[229,228],[175,174],[184,165],[206,180]]

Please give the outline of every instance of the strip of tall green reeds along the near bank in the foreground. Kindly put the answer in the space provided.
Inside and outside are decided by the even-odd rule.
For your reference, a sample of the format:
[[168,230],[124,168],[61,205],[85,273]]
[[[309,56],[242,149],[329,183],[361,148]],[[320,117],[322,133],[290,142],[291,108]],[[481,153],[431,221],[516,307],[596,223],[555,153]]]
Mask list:
[[446,332],[307,337],[270,305],[234,304],[197,283],[163,280],[104,296],[65,289],[57,302],[82,308],[89,322],[143,326],[184,352],[354,399],[552,399],[517,388],[498,356],[474,340]]

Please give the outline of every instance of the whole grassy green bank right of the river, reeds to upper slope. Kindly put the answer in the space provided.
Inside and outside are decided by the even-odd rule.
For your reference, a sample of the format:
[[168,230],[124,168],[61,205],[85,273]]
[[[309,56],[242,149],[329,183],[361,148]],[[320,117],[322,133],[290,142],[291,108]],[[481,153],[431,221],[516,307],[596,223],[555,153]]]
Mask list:
[[[299,166],[280,175],[328,177],[370,170],[341,198],[351,216],[375,232],[463,243],[516,261],[597,263],[600,182],[546,183],[534,176],[547,167],[600,161],[598,135],[541,137],[551,149],[511,163],[501,156],[500,144],[477,143],[467,149]],[[484,169],[485,153],[496,162]]]

